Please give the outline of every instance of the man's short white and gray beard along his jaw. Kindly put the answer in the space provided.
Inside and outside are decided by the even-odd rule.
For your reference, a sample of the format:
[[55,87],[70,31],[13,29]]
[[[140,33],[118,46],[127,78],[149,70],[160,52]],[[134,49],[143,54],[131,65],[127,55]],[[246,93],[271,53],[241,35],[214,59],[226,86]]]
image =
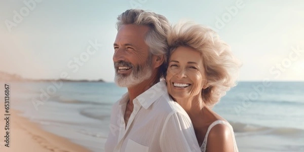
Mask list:
[[[132,72],[130,75],[123,75],[115,72],[115,83],[120,87],[133,87],[139,83],[151,78],[152,68],[149,65],[150,63],[145,64],[144,66],[133,66],[131,69]],[[139,68],[139,69],[138,69]]]

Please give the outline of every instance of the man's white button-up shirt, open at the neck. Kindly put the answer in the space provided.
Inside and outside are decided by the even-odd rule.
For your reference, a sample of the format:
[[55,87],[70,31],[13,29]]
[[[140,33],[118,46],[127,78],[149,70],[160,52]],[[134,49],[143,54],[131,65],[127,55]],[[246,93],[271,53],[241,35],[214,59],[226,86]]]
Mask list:
[[134,109],[125,127],[128,93],[112,107],[105,151],[200,151],[194,128],[185,110],[173,101],[161,81],[133,100]]

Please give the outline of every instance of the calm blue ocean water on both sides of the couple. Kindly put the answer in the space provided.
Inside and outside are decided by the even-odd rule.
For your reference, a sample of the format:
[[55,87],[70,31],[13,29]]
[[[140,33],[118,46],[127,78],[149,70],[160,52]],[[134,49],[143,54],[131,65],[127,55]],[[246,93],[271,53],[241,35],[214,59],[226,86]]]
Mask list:
[[[11,106],[43,129],[103,151],[114,83],[10,83]],[[239,82],[213,108],[235,131],[240,151],[304,151],[304,82]]]

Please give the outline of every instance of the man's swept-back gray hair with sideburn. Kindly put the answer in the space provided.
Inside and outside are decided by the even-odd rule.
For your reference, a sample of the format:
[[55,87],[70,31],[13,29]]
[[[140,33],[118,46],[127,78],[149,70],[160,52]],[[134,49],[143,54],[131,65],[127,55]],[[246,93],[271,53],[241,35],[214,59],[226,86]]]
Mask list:
[[[149,51],[153,55],[164,55],[164,63],[161,70],[165,68],[167,63],[167,33],[170,30],[170,23],[166,17],[153,12],[147,12],[139,9],[127,10],[118,16],[116,28],[119,30],[122,25],[144,25],[150,29],[145,36],[145,43],[149,47]],[[161,72],[163,73],[163,72]],[[160,75],[162,77],[162,75]]]

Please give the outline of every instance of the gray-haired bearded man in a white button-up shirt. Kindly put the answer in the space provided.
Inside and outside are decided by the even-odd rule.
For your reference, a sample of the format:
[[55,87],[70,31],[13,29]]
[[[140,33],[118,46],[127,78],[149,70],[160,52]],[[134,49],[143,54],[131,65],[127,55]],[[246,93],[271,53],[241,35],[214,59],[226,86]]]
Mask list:
[[143,10],[118,17],[115,82],[128,93],[113,105],[105,151],[200,151],[187,113],[160,82],[166,62],[168,20]]

